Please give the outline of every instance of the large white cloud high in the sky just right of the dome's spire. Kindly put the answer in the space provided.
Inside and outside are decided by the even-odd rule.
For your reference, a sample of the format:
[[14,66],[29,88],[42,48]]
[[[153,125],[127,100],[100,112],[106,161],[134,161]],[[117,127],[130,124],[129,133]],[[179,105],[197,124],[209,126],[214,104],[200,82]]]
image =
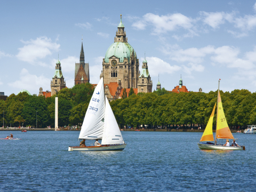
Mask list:
[[167,31],[173,31],[178,28],[191,29],[193,27],[194,20],[186,17],[181,13],[156,15],[153,13],[147,13],[143,15],[143,19],[140,19],[132,24],[135,29],[145,29],[147,25],[152,25],[153,34],[163,34]]

